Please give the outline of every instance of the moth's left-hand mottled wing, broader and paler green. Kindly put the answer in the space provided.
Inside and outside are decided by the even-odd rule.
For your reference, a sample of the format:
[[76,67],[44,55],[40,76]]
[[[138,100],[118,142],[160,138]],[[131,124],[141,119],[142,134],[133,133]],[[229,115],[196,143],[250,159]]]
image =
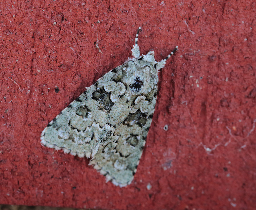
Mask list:
[[47,125],[41,144],[79,157],[89,158],[97,153],[102,139],[114,133],[118,111],[109,112],[114,103],[104,85],[109,85],[113,78],[118,80],[122,72],[123,65],[118,66],[88,87]]

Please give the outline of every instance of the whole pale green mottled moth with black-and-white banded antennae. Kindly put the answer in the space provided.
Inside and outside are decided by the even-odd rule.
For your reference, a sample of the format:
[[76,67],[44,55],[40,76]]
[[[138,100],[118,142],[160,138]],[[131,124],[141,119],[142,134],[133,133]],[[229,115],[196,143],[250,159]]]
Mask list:
[[137,171],[155,111],[160,62],[154,51],[140,55],[138,35],[132,58],[88,87],[53,119],[41,135],[43,146],[91,158],[106,181],[124,187]]

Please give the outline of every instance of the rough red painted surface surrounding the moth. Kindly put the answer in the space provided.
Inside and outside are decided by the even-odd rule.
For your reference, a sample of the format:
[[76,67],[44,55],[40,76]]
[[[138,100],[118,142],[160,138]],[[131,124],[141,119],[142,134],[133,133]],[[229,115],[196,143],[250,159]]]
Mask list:
[[[0,3],[0,203],[255,209],[255,2],[63,2]],[[88,159],[42,147],[40,134],[131,56],[139,26],[143,54],[179,51],[159,73],[134,181],[119,188]]]

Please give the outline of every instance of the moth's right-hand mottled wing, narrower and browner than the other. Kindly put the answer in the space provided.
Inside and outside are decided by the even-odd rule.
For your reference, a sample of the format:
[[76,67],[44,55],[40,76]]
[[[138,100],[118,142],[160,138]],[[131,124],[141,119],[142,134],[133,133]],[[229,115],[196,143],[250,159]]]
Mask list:
[[143,107],[137,107],[135,113],[131,109],[132,113],[126,115],[114,134],[108,137],[108,141],[102,142],[99,152],[90,161],[90,165],[94,165],[95,169],[106,176],[107,181],[111,180],[115,185],[123,187],[130,184],[137,171],[155,110],[156,92],[157,87],[146,96],[147,112]]

